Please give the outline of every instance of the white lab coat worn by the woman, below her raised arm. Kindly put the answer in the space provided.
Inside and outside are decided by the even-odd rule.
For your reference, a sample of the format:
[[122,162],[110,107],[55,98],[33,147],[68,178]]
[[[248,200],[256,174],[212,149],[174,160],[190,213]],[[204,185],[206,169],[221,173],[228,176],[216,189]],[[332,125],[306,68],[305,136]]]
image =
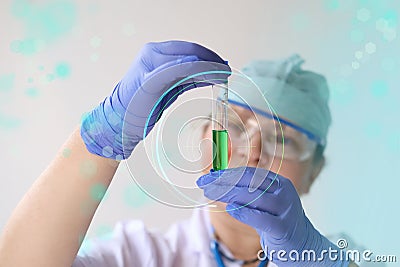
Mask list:
[[[201,209],[196,209],[190,219],[172,225],[166,234],[148,230],[142,221],[121,222],[109,238],[93,240],[82,247],[72,267],[217,267],[210,250],[210,225],[208,212]],[[349,240],[343,235],[330,239],[336,243],[338,237]],[[354,243],[352,247],[356,247]],[[232,257],[223,244],[220,248]],[[240,267],[229,261],[224,263],[226,267]],[[268,267],[276,265],[270,262]]]

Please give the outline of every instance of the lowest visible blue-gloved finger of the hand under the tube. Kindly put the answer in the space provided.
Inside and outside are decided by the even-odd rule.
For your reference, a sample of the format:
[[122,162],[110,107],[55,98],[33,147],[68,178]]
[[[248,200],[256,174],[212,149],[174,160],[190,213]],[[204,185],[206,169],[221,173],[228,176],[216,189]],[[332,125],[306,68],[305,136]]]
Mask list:
[[236,220],[245,223],[261,232],[273,232],[274,236],[282,236],[287,232],[286,224],[282,223],[279,216],[269,214],[268,212],[241,207],[237,204],[229,204],[226,211]]

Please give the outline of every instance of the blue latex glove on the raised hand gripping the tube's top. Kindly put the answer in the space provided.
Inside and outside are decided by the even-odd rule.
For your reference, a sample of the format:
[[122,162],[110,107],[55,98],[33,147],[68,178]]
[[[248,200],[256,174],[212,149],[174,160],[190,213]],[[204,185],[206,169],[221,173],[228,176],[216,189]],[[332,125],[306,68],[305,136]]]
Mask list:
[[181,93],[222,83],[230,71],[221,57],[198,44],[146,44],[112,94],[84,118],[81,136],[87,149],[107,158],[128,158]]

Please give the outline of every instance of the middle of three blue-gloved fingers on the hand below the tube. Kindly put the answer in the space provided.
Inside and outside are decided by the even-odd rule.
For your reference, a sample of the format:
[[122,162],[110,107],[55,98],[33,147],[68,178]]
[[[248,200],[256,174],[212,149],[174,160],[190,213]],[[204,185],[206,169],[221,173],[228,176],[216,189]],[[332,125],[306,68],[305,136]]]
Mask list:
[[280,195],[268,193],[259,189],[249,192],[249,190],[244,187],[232,188],[209,185],[203,188],[203,190],[204,196],[210,200],[246,206],[273,215],[283,214],[290,206],[290,202],[287,199],[282,199]]

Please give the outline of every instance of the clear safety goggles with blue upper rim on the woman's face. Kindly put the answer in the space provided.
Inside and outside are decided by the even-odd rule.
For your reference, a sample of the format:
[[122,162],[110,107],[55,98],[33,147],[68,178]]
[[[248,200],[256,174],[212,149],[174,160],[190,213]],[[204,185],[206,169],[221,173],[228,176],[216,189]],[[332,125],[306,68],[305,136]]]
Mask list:
[[283,160],[305,161],[313,156],[318,138],[305,129],[266,112],[240,108],[239,112],[230,109],[228,113],[232,153],[250,155],[252,149],[260,147],[261,158],[267,155]]

